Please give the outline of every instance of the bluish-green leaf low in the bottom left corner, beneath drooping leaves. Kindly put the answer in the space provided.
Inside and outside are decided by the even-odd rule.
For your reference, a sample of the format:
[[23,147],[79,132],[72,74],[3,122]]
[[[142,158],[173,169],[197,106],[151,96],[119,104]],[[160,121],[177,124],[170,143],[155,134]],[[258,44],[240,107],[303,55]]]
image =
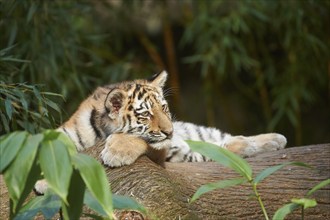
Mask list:
[[60,209],[61,200],[52,193],[46,193],[44,196],[38,196],[31,199],[20,210],[14,220],[33,219],[38,212],[42,212],[46,219],[51,219]]

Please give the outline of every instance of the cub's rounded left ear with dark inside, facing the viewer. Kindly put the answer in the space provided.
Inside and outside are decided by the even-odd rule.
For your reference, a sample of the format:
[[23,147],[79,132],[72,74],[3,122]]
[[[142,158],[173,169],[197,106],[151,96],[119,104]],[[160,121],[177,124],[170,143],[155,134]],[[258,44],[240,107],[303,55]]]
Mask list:
[[121,89],[111,90],[105,99],[104,106],[111,119],[115,119],[120,109],[123,107],[126,99],[126,93]]

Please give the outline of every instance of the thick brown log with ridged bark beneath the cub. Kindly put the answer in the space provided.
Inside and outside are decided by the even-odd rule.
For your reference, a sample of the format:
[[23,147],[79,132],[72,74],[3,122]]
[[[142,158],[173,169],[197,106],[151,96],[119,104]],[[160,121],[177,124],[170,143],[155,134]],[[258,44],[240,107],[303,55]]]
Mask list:
[[[86,153],[98,158],[103,145]],[[269,217],[292,198],[302,198],[319,182],[330,178],[330,144],[304,146],[267,152],[247,158],[254,175],[285,162],[299,161],[313,169],[287,166],[258,185]],[[189,203],[203,184],[239,177],[234,171],[215,162],[166,163],[166,169],[143,156],[134,164],[106,168],[113,193],[129,195],[148,210],[146,219],[264,219],[259,203],[252,198],[248,184],[219,189]],[[312,195],[318,205],[305,210],[305,219],[330,219],[330,187]],[[288,219],[301,219],[301,210]]]

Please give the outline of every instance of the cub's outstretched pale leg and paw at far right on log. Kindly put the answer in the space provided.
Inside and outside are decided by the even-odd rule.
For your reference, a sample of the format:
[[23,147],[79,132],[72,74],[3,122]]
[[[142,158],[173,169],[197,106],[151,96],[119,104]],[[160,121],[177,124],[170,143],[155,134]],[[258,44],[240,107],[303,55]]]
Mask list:
[[232,136],[225,144],[225,148],[243,157],[257,153],[283,149],[286,138],[277,133],[260,134],[256,136]]

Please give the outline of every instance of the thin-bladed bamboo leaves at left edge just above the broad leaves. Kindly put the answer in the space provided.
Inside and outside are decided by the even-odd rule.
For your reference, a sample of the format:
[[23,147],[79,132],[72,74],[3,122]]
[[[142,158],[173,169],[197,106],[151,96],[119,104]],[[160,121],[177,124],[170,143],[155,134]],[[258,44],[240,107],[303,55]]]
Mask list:
[[56,126],[52,112],[61,117],[61,109],[52,98],[61,95],[41,89],[40,85],[0,81],[0,134],[20,129],[36,133]]

